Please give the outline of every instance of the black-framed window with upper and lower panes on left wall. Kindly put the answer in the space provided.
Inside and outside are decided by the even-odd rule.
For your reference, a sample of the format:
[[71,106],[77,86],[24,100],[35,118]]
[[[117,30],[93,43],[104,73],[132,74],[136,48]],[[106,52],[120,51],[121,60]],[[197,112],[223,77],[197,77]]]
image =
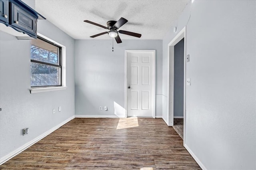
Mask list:
[[30,86],[62,86],[62,47],[38,36],[30,45]]

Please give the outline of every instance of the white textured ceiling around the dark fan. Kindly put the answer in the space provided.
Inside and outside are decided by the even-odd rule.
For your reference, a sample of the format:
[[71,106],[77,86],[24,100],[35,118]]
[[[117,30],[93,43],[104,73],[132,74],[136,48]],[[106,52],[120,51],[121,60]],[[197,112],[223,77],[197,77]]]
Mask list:
[[[119,30],[142,34],[140,39],[163,39],[190,0],[36,0],[36,10],[74,39],[105,32],[109,20],[128,20]],[[120,34],[120,38],[139,39]],[[110,39],[108,34],[94,39]]]

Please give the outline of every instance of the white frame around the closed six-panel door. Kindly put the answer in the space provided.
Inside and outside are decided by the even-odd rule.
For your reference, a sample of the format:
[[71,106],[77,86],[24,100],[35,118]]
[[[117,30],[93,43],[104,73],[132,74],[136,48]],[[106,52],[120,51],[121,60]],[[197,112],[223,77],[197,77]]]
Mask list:
[[126,49],[124,50],[124,56],[125,56],[125,60],[124,60],[124,110],[125,110],[125,117],[127,118],[127,102],[128,102],[128,95],[127,95],[127,64],[128,64],[128,52],[151,52],[153,53],[153,118],[156,118],[156,50],[152,49],[152,50],[133,50],[133,49]]

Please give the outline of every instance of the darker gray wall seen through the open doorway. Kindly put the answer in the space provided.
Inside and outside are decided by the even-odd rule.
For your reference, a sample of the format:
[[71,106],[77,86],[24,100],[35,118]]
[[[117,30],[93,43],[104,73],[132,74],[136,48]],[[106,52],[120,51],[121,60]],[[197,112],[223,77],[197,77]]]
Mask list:
[[174,116],[183,116],[184,107],[184,39],[174,45]]

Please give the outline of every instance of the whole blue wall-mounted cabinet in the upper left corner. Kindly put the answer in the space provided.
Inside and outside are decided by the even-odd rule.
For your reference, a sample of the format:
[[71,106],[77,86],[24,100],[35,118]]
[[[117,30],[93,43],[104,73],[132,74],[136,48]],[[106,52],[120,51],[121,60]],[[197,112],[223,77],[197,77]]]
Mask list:
[[21,0],[0,0],[0,23],[37,38],[37,20],[46,19]]

